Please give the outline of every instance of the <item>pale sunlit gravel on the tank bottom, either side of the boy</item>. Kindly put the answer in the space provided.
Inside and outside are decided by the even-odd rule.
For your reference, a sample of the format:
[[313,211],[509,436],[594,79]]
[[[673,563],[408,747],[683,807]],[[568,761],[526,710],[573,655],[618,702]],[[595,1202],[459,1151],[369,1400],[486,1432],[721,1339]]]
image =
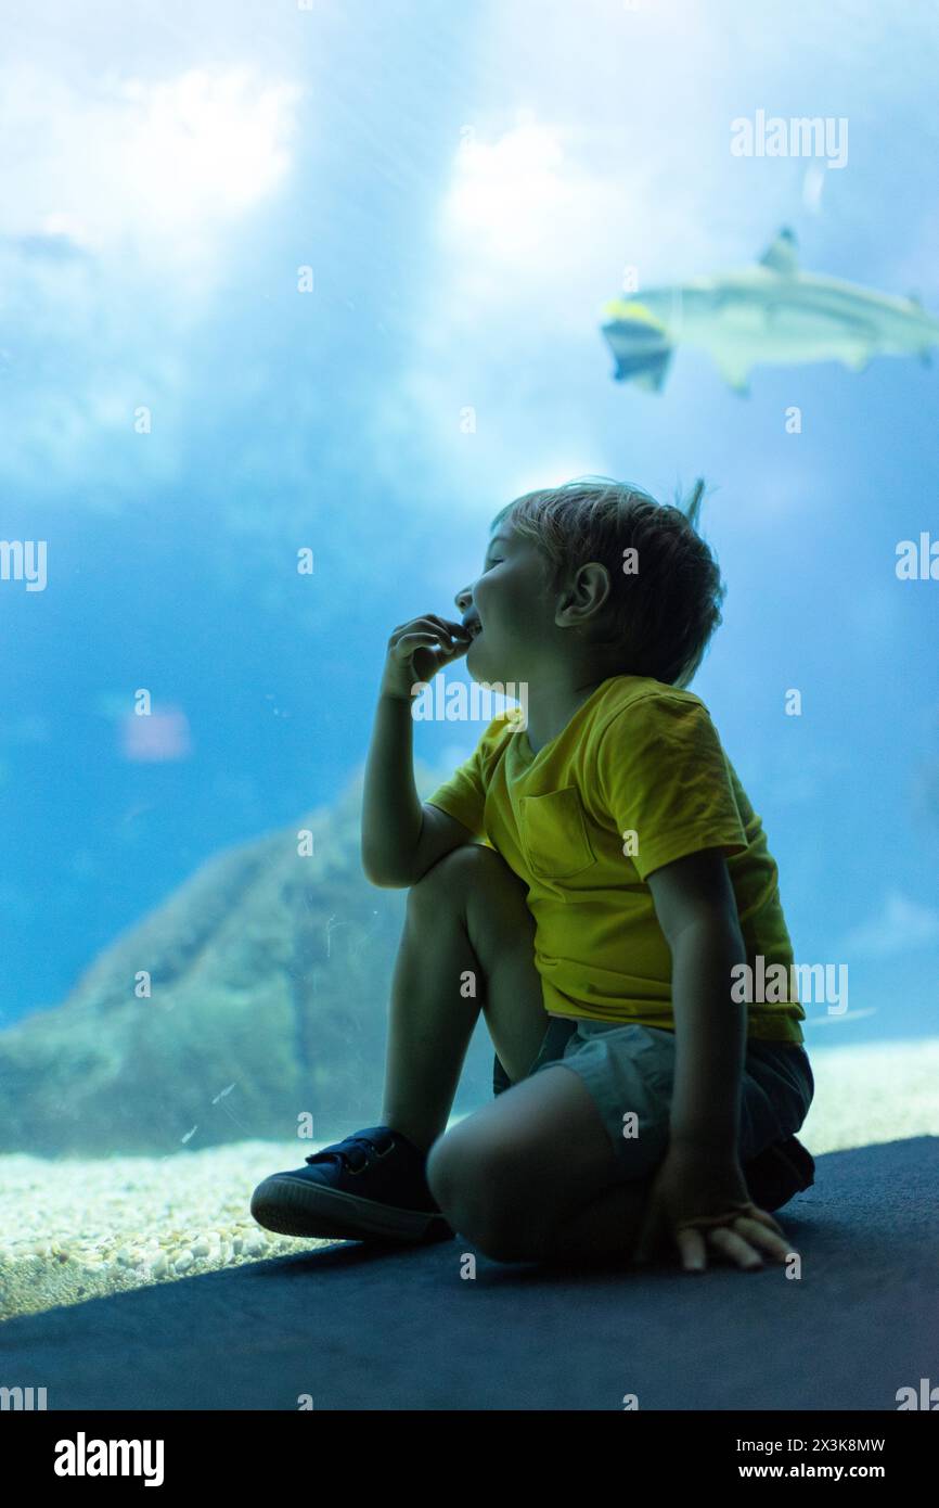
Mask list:
[[[809,1044],[812,1155],[939,1136],[939,1038]],[[451,1123],[455,1123],[451,1122]],[[276,1235],[250,1215],[268,1173],[324,1143],[240,1142],[170,1157],[0,1157],[0,1320],[332,1246]]]

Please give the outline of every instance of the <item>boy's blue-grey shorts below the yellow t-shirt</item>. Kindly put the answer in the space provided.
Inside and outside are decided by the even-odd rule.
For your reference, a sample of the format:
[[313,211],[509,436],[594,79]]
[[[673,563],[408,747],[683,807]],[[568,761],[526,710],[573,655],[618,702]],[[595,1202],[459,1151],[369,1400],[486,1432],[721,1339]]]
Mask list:
[[[616,1155],[619,1176],[654,1172],[669,1143],[675,1081],[675,1033],[552,1016],[541,1050],[526,1074],[562,1065],[586,1084]],[[511,1089],[496,1057],[493,1092]],[[739,1157],[748,1163],[805,1120],[815,1081],[799,1042],[748,1039],[740,1092]],[[629,1117],[629,1119],[627,1119]]]

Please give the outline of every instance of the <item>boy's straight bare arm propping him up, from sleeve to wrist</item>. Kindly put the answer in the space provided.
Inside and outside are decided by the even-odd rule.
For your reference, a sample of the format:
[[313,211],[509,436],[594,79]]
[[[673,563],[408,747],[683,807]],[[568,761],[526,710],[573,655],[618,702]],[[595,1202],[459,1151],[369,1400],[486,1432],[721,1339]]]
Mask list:
[[731,968],[746,964],[746,947],[726,860],[719,847],[701,849],[647,882],[672,953],[671,1146],[737,1158],[746,1004],[731,998]]

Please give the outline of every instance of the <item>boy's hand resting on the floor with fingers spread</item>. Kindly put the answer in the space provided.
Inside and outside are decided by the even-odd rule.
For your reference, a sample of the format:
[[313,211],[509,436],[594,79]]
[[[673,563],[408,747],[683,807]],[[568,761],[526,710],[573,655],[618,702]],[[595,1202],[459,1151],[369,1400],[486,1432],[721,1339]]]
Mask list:
[[751,1200],[736,1157],[698,1148],[669,1148],[653,1181],[633,1262],[675,1247],[687,1273],[702,1273],[707,1253],[739,1267],[763,1267],[761,1252],[779,1262],[791,1255],[773,1217]]

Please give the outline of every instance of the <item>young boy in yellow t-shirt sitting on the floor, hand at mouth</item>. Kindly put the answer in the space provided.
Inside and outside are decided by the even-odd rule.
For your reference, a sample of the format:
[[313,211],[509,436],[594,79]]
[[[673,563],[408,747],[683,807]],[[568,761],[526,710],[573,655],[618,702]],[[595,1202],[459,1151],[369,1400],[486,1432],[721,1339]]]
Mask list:
[[[496,1261],[677,1249],[695,1271],[790,1255],[769,1211],[812,1182],[793,1133],[814,1081],[797,998],[746,986],[760,956],[793,977],[778,870],[686,689],[725,596],[701,493],[687,513],[607,478],[528,493],[463,621],[393,632],[362,823],[368,878],[410,891],[381,1123],[267,1178],[268,1229],[460,1231]],[[526,688],[528,727],[494,718],[422,805],[411,697],[461,654]],[[446,1133],[481,1009],[496,1098]]]

